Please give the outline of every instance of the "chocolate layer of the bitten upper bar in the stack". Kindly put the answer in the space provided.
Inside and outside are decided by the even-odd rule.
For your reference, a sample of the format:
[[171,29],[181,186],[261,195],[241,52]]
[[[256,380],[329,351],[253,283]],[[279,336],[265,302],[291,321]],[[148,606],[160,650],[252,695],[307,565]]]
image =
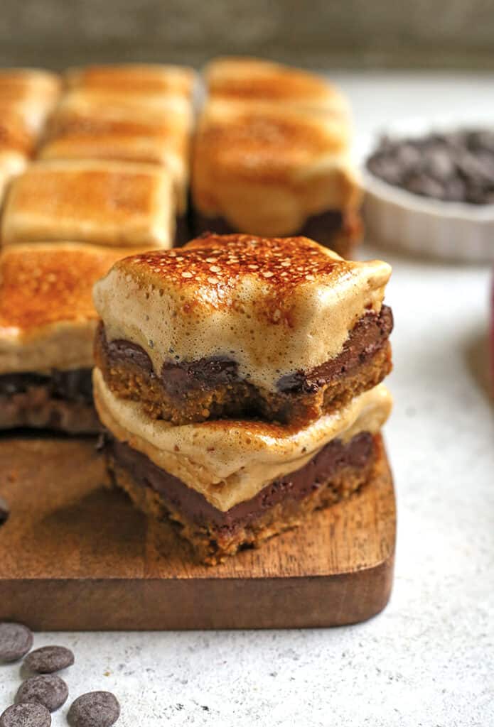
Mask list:
[[[295,371],[279,379],[279,393],[315,393],[322,386],[354,374],[360,366],[383,348],[393,329],[391,308],[383,305],[379,313],[370,312],[360,318],[348,335],[338,356],[310,371]],[[108,341],[103,324],[97,332],[98,345],[109,365],[132,362],[148,374],[156,376],[151,359],[143,348],[125,340]],[[223,385],[241,382],[238,365],[230,358],[215,356],[197,361],[166,361],[159,374],[167,394],[181,398],[190,390],[214,390]]]

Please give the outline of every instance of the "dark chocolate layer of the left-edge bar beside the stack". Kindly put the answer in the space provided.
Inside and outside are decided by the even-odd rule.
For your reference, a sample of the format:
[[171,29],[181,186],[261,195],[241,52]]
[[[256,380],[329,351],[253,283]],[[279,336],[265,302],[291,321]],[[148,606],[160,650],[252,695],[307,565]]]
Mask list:
[[0,396],[28,393],[33,387],[43,387],[52,399],[65,399],[92,405],[92,369],[73,369],[51,374],[23,373],[0,375]]

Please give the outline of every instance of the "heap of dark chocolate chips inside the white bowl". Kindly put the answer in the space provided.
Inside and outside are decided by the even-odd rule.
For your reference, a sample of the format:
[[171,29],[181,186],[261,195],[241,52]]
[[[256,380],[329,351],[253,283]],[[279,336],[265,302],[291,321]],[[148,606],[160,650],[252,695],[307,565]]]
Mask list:
[[494,131],[459,130],[415,139],[383,137],[367,168],[388,184],[425,197],[493,204]]

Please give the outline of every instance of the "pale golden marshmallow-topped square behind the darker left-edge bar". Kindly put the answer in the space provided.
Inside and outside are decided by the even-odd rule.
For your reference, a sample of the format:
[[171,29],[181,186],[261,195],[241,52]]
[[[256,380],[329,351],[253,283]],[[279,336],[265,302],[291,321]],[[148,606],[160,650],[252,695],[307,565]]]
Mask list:
[[164,167],[39,161],[12,182],[2,241],[167,248],[175,236],[175,208],[172,178]]

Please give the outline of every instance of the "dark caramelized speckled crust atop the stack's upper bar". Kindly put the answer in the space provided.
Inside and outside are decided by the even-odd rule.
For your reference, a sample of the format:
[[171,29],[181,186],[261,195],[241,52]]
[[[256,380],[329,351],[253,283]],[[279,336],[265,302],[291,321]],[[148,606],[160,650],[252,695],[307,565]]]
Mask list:
[[315,242],[302,237],[260,238],[250,235],[208,235],[184,248],[127,257],[117,268],[138,284],[159,291],[186,294],[184,310],[197,305],[232,308],[242,282],[258,281],[258,312],[273,324],[290,324],[293,293],[321,281],[334,285],[348,276],[352,263],[333,260]]

